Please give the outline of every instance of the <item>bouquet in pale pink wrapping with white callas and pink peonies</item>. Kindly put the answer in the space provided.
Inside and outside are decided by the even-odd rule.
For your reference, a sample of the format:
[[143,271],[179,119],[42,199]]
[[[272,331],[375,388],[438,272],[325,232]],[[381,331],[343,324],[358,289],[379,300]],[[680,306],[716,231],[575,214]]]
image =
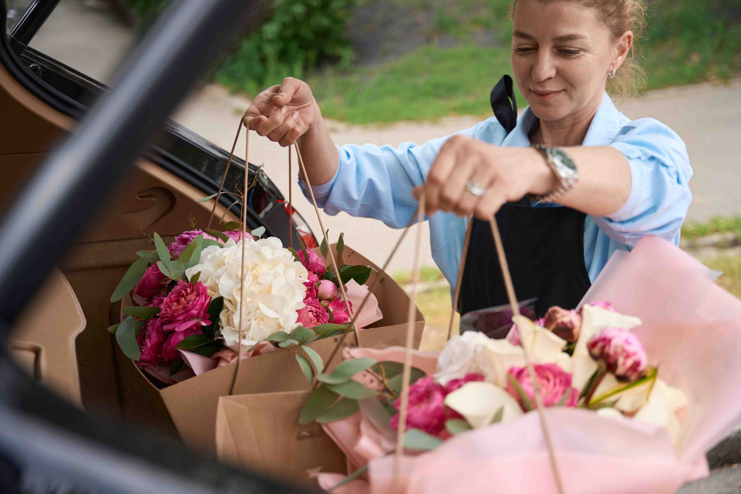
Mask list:
[[[578,310],[514,322],[506,339],[413,354],[399,492],[557,492],[522,345],[568,493],[674,493],[741,420],[741,302],[659,238],[612,259]],[[332,493],[390,493],[404,349],[347,355],[299,421],[322,424],[351,474],[316,476]]]

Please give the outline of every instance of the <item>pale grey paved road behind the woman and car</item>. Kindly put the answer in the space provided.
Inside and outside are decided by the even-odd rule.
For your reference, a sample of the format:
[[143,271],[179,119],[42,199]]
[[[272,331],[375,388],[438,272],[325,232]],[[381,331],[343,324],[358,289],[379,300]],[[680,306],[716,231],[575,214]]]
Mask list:
[[[102,0],[62,0],[41,28],[31,46],[56,57],[77,70],[107,81],[135,36],[114,19]],[[489,82],[482,82],[482,91]],[[209,85],[193,94],[173,118],[190,130],[228,149],[234,128],[249,101]],[[651,116],[668,124],[685,140],[695,170],[691,187],[694,201],[688,218],[704,220],[717,215],[741,214],[737,194],[741,186],[741,79],[728,85],[698,84],[647,93],[637,101],[619,104],[632,118]],[[475,118],[442,119],[435,123],[402,122],[388,127],[349,127],[330,124],[337,144],[373,143],[396,145],[402,141],[422,143],[476,124]],[[237,149],[244,149],[240,144]],[[265,164],[265,171],[282,190],[288,190],[287,150],[253,134],[250,161]],[[314,231],[319,222],[313,218],[309,202],[299,196],[294,204],[308,219]],[[345,213],[325,218],[330,233],[344,231],[347,241],[362,248],[366,256],[381,262],[391,250],[399,232],[379,221],[350,218]],[[426,228],[425,228],[426,230]],[[423,264],[433,264],[425,231]],[[391,271],[409,267],[411,241],[396,256]]]

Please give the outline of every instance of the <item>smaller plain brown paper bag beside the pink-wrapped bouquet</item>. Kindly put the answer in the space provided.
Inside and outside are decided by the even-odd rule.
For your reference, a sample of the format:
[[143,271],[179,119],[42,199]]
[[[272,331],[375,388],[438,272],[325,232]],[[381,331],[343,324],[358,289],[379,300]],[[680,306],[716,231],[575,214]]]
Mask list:
[[[308,470],[347,473],[345,454],[316,423],[299,425],[310,391],[222,396],[216,453],[225,463],[297,487],[316,488]],[[236,441],[236,439],[239,441]]]

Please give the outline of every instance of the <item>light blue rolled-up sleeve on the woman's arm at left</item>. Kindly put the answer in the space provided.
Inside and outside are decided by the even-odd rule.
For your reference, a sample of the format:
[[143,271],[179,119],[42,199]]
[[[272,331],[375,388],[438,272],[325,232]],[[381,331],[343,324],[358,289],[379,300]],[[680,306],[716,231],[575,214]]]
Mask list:
[[[480,125],[459,134],[473,137]],[[379,219],[393,228],[404,227],[417,206],[412,190],[424,182],[448,138],[436,138],[422,145],[404,142],[399,147],[338,146],[339,167],[334,178],[311,187],[316,202],[329,215],[345,211],[352,216]],[[308,196],[308,186],[300,179],[299,185]]]

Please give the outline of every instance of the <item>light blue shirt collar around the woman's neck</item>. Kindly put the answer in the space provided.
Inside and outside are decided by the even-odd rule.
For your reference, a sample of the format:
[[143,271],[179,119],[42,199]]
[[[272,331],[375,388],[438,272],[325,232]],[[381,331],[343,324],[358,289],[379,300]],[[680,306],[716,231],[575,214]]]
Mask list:
[[[517,124],[511,133],[502,141],[503,146],[529,147],[530,139],[528,133],[537,121],[537,117],[530,107],[525,108],[522,115],[517,119]],[[597,113],[589,124],[589,129],[584,137],[583,146],[607,146],[611,144],[620,130],[621,113],[615,107],[610,96],[605,91],[602,101],[599,102]]]

